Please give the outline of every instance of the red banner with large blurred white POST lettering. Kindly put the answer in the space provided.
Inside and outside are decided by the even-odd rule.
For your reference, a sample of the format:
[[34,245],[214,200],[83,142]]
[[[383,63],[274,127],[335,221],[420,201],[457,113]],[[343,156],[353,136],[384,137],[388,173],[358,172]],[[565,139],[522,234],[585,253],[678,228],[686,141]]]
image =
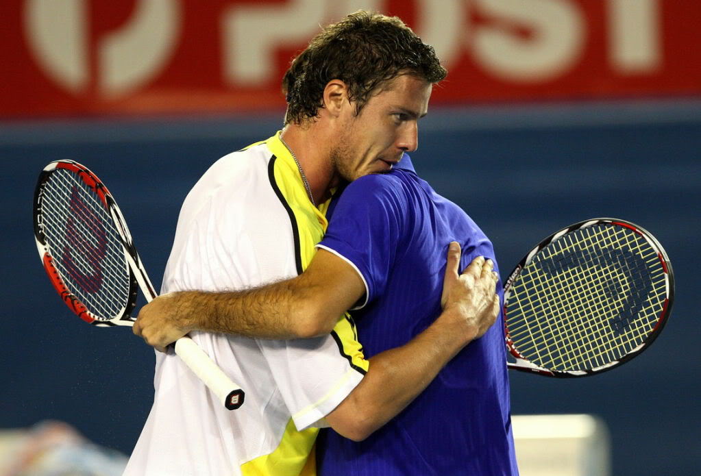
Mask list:
[[400,16],[433,104],[701,95],[696,0],[5,0],[0,118],[283,109],[319,25]]

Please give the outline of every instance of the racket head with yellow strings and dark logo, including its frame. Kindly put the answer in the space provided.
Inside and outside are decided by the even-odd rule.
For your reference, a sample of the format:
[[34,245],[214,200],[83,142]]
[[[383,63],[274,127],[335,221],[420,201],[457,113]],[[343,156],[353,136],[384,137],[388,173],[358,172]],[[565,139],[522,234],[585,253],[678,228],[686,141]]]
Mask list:
[[674,273],[651,233],[615,218],[542,240],[504,285],[512,369],[555,377],[611,370],[648,348],[672,311]]

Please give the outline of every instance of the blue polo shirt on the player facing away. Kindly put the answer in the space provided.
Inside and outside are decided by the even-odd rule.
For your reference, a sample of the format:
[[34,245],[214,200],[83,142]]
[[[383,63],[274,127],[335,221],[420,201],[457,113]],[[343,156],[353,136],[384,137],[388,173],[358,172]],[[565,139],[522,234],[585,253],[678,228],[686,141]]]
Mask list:
[[[475,222],[419,178],[407,156],[343,191],[319,246],[350,261],[367,285],[367,301],[353,313],[366,358],[407,344],[440,314],[452,240],[461,243],[461,269],[477,256],[494,260]],[[500,315],[367,440],[323,430],[319,475],[518,475],[503,328]]]

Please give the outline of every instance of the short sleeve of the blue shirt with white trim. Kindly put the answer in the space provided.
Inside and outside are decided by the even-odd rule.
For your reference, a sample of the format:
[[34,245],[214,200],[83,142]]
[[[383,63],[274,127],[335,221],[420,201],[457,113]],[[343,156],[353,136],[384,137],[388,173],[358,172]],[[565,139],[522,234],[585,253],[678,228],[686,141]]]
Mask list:
[[360,274],[366,293],[357,308],[383,294],[409,213],[400,180],[392,175],[360,177],[341,194],[317,247],[345,259]]

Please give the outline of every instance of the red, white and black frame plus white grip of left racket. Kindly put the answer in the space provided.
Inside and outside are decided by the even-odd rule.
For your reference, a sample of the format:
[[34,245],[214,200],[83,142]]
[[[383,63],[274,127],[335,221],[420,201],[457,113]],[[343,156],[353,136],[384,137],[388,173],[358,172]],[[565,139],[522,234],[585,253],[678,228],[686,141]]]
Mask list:
[[[64,282],[60,271],[53,265],[53,257],[46,245],[46,233],[44,232],[43,214],[41,213],[41,203],[43,200],[43,191],[46,182],[51,173],[57,168],[67,169],[79,175],[83,183],[88,185],[100,198],[102,205],[109,211],[111,219],[115,224],[117,234],[120,238],[122,250],[124,253],[127,269],[129,273],[129,289],[128,302],[122,308],[119,315],[113,318],[105,319],[97,317],[88,311],[88,308],[80,301],[75,294],[69,290],[69,287]],[[81,319],[89,322],[97,327],[113,327],[113,326],[128,326],[132,327],[135,318],[131,313],[134,310],[138,291],[137,285],[144,293],[144,297],[148,302],[155,299],[158,294],[151,283],[149,276],[144,268],[141,258],[136,250],[132,240],[131,233],[119,209],[116,200],[111,196],[109,190],[97,178],[93,172],[80,163],[75,161],[53,161],[46,165],[39,174],[39,179],[36,183],[34,191],[34,240],[36,248],[39,251],[39,257],[49,280],[55,290],[58,292],[64,303],[78,315]],[[226,409],[235,410],[243,405],[245,400],[245,392],[236,383],[233,383],[229,376],[226,376],[215,362],[199,347],[189,336],[184,336],[175,342],[175,353],[181,358],[186,365],[200,378],[205,385],[212,390],[217,398]]]

